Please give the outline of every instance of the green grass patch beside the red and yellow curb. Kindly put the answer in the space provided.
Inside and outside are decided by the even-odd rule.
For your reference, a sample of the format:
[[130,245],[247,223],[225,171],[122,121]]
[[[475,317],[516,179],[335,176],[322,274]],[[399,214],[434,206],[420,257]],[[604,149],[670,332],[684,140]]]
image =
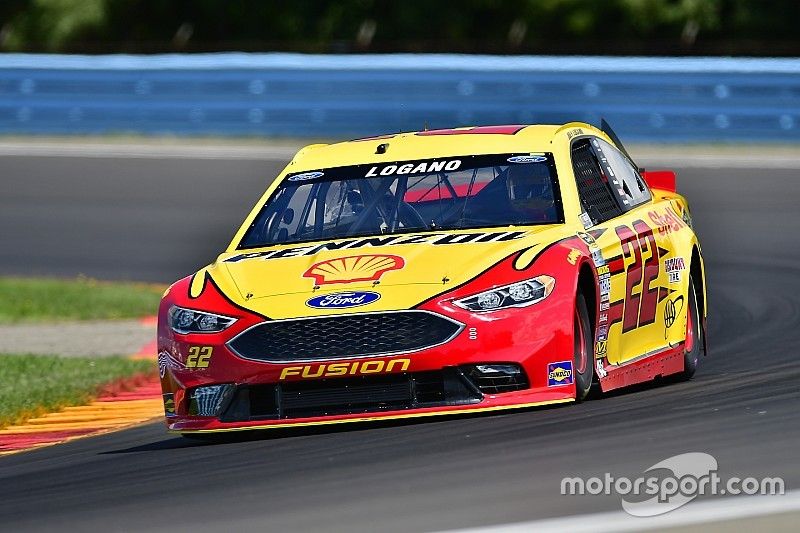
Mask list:
[[152,373],[154,365],[125,357],[0,355],[0,428],[69,405],[83,405],[104,384]]

